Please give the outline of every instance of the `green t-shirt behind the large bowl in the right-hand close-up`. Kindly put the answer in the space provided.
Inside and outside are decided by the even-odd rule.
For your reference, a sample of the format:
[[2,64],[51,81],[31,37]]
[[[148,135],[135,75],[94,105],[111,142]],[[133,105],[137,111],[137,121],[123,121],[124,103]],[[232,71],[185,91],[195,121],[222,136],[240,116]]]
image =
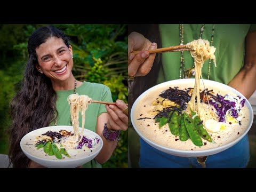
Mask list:
[[[184,24],[184,43],[199,38],[202,25]],[[205,24],[202,39],[211,42],[212,24]],[[255,29],[250,24],[215,24],[213,46],[216,48],[215,57],[217,67],[211,61],[210,80],[228,84],[244,65],[245,36],[249,30]],[[159,25],[162,47],[180,44],[179,24]],[[159,70],[157,83],[180,78],[180,52],[162,53],[162,66]],[[192,68],[194,58],[189,51],[184,52],[185,68]],[[207,79],[209,60],[206,60],[202,75]]]

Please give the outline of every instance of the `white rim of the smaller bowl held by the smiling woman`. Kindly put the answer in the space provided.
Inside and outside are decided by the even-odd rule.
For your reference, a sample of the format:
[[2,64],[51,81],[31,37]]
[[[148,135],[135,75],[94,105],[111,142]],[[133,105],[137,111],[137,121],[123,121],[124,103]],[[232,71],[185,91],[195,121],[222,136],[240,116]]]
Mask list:
[[[84,128],[84,133],[85,132],[89,132],[89,133],[91,133],[91,134],[94,134],[95,135],[95,137],[99,137],[99,139],[100,139],[100,141],[99,141],[99,143],[100,143],[100,147],[99,148],[97,148],[97,149],[95,149],[93,152],[94,153],[92,153],[92,154],[90,154],[89,156],[85,156],[85,157],[77,157],[77,158],[71,158],[71,159],[65,159],[64,161],[63,161],[63,159],[46,159],[46,158],[42,158],[42,157],[38,157],[38,156],[35,156],[35,155],[33,155],[33,154],[31,154],[31,153],[28,153],[28,151],[23,147],[23,145],[22,145],[22,143],[23,143],[23,141],[25,140],[25,138],[26,137],[29,137],[29,135],[31,135],[31,134],[33,134],[33,133],[35,133],[35,132],[37,132],[37,131],[42,131],[42,130],[48,130],[48,129],[61,129],[61,127],[62,127],[62,129],[72,129],[73,130],[73,126],[67,126],[67,125],[56,125],[56,126],[46,126],[46,127],[42,127],[42,128],[39,128],[39,129],[36,129],[36,130],[33,130],[33,131],[31,131],[31,132],[29,132],[29,133],[27,133],[26,135],[24,135],[23,137],[22,137],[22,139],[20,140],[20,147],[21,147],[21,150],[23,151],[23,153],[27,153],[27,154],[29,154],[31,157],[33,157],[33,158],[36,158],[36,159],[38,159],[38,160],[42,160],[42,161],[45,161],[45,162],[53,162],[53,163],[62,163],[62,162],[72,162],[72,161],[79,161],[79,160],[82,160],[82,159],[84,159],[85,157],[91,157],[91,156],[93,156],[93,155],[95,155],[95,154],[98,154],[100,151],[101,151],[101,149],[102,149],[102,147],[103,147],[103,140],[101,139],[101,137],[100,137],[100,135],[99,134],[97,134],[97,133],[95,133],[95,132],[93,132],[93,131],[91,131],[91,130],[88,130],[88,129],[85,129]],[[82,127],[79,127],[79,129],[82,129]],[[27,156],[27,155],[26,155]]]

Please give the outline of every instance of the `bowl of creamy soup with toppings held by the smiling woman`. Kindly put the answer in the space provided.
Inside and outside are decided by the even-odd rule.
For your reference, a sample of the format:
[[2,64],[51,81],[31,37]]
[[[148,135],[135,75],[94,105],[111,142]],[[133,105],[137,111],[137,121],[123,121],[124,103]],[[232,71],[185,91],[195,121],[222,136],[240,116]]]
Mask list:
[[81,141],[69,142],[73,133],[73,126],[43,127],[26,134],[20,147],[29,159],[45,167],[78,167],[99,154],[103,141],[97,133],[84,129]]

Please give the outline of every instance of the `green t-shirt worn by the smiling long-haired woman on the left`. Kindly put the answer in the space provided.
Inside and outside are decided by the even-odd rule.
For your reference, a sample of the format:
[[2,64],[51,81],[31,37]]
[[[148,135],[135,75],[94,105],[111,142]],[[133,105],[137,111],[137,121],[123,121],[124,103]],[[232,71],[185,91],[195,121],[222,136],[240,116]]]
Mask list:
[[[92,100],[113,102],[111,98],[111,92],[109,87],[103,84],[83,82],[83,84],[77,87],[76,92],[79,95],[85,94]],[[68,105],[68,96],[73,94],[74,90],[57,91],[56,107],[58,111],[57,125],[70,125],[70,108]],[[106,113],[105,105],[100,103],[91,103],[85,111],[85,125],[84,128],[96,132],[97,129],[97,117],[102,113]],[[54,125],[54,122],[51,123]],[[82,116],[79,115],[79,127],[82,127]],[[83,165],[83,167],[101,167],[101,164],[97,163],[94,159]]]

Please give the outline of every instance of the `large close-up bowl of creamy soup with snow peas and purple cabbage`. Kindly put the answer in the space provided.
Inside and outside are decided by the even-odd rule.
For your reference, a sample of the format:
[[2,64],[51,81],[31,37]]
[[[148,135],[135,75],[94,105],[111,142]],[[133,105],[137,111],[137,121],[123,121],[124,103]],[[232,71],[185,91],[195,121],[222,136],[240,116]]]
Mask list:
[[[194,84],[195,79],[164,82],[143,92],[133,103],[132,125],[139,136],[150,146],[175,156],[203,157],[230,148],[250,130],[253,110],[249,101],[237,90],[222,83],[201,79],[200,89],[204,98],[201,98],[204,103],[202,104],[203,111],[201,111],[203,115],[192,114],[188,108],[185,110],[191,98],[188,95],[191,96]],[[176,94],[176,96],[171,97],[170,94]],[[186,113],[185,117],[182,116],[184,113]],[[209,114],[212,114],[213,119],[203,117]],[[190,127],[196,116],[203,118],[197,123],[194,122],[193,127]],[[189,133],[188,139],[181,138],[183,137],[183,132],[180,134],[182,124],[174,126],[178,121],[181,122],[181,118],[183,122],[186,122],[186,126],[184,124],[183,126]],[[191,131],[197,130],[198,126],[203,127],[203,133],[199,139],[202,141],[199,143],[198,136],[195,137]]]

